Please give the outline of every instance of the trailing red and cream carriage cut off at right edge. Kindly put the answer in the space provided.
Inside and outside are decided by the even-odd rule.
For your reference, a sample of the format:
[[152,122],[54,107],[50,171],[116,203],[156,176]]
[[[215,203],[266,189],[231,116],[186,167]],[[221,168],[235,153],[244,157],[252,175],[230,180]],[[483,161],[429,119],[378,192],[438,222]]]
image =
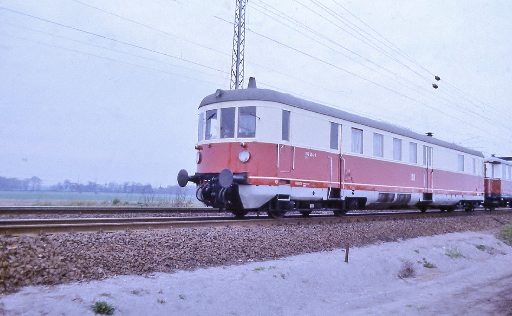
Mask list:
[[485,207],[512,207],[512,157],[485,159]]

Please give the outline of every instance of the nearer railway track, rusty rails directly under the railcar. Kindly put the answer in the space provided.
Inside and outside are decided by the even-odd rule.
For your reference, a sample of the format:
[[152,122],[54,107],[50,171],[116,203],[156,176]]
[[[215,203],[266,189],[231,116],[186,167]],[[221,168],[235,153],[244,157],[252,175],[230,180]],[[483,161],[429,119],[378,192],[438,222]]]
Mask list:
[[[510,209],[494,210],[492,214],[508,213]],[[314,214],[309,217],[301,215],[287,215],[283,219],[271,219],[268,216],[246,216],[236,219],[226,216],[208,217],[122,217],[122,218],[66,218],[66,219],[5,219],[0,220],[0,235],[22,236],[58,233],[78,233],[169,228],[201,228],[226,226],[271,226],[271,225],[298,225],[311,223],[342,223],[353,221],[378,221],[392,219],[414,219],[425,217],[453,217],[474,216],[478,214],[491,214],[489,211],[476,210],[474,212],[388,212],[388,213],[351,213],[344,217],[335,217],[332,214]]]

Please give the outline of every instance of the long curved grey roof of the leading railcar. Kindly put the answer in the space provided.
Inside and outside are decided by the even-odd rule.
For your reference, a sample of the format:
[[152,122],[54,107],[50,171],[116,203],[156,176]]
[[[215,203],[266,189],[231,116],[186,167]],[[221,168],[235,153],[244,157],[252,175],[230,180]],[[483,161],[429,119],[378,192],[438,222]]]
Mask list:
[[386,122],[376,121],[367,117],[355,115],[340,109],[335,109],[332,107],[325,106],[323,104],[315,103],[312,101],[307,101],[304,99],[297,98],[291,94],[282,93],[269,89],[234,89],[234,90],[217,90],[219,93],[213,93],[206,96],[201,103],[199,104],[199,108],[207,106],[208,104],[218,103],[218,102],[226,102],[226,101],[243,101],[243,100],[260,100],[260,101],[272,101],[279,102],[283,104],[287,104],[289,106],[304,109],[312,112],[316,112],[319,114],[324,114],[332,117],[336,117],[339,119],[347,120],[350,122],[358,123],[361,125],[366,125],[368,127],[372,127],[375,129],[387,131],[393,134],[398,134],[410,138],[414,138],[417,140],[424,141],[426,143],[431,143],[435,145],[439,145],[445,148],[450,148],[456,151],[464,152],[467,154],[484,157],[484,155],[476,150],[472,150],[469,148],[465,148],[459,146],[455,143],[450,143],[447,141],[443,141],[437,138],[433,138],[431,136],[422,135],[419,133],[415,133],[406,128],[399,127],[397,125],[393,125]]

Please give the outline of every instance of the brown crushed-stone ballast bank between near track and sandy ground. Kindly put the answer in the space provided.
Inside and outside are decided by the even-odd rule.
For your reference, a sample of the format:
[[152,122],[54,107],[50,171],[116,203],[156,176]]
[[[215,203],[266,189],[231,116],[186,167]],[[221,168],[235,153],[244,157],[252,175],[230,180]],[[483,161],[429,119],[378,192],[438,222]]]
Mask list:
[[380,241],[496,228],[512,214],[0,238],[0,293],[35,284],[242,264]]

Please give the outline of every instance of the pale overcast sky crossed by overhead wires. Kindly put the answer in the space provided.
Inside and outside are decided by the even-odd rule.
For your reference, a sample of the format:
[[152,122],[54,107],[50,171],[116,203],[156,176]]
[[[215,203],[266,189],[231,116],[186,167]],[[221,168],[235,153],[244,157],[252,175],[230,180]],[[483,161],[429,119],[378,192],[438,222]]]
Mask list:
[[[0,1],[0,176],[195,172],[197,107],[229,89],[234,4]],[[244,86],[512,156],[512,2],[249,0],[246,15]]]

